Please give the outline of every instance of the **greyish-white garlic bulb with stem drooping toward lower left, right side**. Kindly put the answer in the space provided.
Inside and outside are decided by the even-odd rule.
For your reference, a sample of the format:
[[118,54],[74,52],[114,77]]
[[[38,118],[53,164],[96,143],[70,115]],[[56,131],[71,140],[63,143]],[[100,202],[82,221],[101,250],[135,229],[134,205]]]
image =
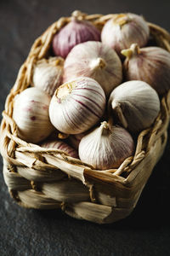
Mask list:
[[108,102],[113,117],[129,131],[138,132],[150,127],[160,111],[156,90],[143,81],[128,81],[111,92]]

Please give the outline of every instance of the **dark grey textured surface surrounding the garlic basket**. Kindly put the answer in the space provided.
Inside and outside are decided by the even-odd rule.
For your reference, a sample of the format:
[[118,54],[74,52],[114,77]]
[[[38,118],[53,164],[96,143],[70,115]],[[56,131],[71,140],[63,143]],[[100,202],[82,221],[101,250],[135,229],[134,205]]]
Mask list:
[[[0,112],[33,41],[60,16],[133,12],[170,31],[170,2],[0,0]],[[0,170],[3,170],[2,157]],[[170,143],[137,207],[115,224],[93,224],[60,211],[17,206],[0,172],[0,255],[170,255]]]

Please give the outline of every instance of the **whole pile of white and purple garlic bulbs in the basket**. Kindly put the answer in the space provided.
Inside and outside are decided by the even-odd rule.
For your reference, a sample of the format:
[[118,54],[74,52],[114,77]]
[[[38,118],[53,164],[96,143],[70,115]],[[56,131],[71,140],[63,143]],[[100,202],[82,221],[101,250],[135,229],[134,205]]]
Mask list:
[[18,136],[97,170],[118,168],[170,90],[170,53],[149,40],[139,15],[113,15],[101,31],[73,15],[54,35],[54,55],[34,64],[30,86],[14,97]]

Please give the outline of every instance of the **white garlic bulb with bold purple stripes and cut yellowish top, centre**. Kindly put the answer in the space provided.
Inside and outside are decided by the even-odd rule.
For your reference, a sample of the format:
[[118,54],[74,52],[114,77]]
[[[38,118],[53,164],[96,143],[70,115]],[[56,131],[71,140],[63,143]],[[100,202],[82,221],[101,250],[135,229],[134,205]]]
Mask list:
[[49,105],[49,118],[66,134],[87,131],[105,111],[105,92],[94,79],[77,78],[62,84]]

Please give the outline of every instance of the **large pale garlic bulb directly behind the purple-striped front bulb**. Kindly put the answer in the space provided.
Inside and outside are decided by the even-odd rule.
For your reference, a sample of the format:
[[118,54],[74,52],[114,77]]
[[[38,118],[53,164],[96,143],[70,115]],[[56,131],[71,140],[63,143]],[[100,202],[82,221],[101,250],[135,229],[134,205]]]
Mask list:
[[78,44],[65,59],[63,81],[78,76],[95,79],[109,96],[122,83],[122,62],[116,51],[105,44],[91,41]]

